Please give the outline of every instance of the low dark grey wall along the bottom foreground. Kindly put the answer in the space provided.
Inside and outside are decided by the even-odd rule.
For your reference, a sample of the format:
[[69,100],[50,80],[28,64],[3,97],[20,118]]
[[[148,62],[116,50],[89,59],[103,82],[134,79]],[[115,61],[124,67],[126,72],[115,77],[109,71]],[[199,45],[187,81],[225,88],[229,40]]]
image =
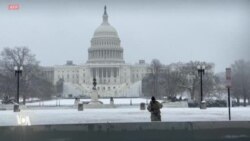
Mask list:
[[249,141],[250,122],[0,126],[1,141]]

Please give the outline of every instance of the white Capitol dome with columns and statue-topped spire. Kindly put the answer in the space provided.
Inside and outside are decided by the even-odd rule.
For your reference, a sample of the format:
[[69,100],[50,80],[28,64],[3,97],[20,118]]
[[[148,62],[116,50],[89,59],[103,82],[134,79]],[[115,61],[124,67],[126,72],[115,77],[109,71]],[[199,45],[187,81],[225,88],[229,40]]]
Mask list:
[[107,8],[104,7],[103,21],[94,32],[88,49],[88,63],[124,63],[123,48],[116,29],[108,22]]

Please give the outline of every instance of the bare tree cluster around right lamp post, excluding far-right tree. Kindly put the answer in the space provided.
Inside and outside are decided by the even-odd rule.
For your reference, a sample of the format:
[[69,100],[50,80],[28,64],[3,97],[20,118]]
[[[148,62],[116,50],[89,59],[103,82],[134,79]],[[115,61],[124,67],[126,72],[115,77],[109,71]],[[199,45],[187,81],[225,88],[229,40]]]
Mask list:
[[200,99],[200,77],[197,65],[205,65],[206,72],[203,76],[204,95],[213,93],[215,86],[214,65],[206,62],[189,62],[162,65],[154,59],[151,63],[152,73],[142,80],[142,93],[144,96],[176,97],[187,91],[191,99]]

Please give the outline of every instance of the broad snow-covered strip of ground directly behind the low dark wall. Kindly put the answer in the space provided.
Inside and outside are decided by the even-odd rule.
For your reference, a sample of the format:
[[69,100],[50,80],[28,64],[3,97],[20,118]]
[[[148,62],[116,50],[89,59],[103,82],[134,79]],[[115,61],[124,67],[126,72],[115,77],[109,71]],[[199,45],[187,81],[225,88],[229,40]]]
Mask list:
[[[227,121],[227,108],[163,108],[162,121]],[[250,107],[232,108],[233,121],[249,121]],[[150,113],[139,107],[116,109],[40,109],[22,110],[14,113],[11,110],[0,111],[0,126],[18,125],[17,118],[29,117],[31,125],[41,124],[77,124],[107,122],[150,122]]]

